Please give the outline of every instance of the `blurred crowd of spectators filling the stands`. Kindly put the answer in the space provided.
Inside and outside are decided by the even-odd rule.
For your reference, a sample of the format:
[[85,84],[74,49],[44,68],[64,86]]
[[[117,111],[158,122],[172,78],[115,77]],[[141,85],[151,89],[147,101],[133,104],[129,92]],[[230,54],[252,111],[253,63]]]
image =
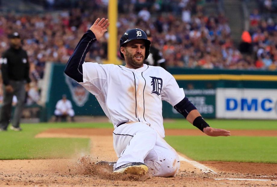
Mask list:
[[[249,50],[240,50],[231,39],[224,14],[205,13],[207,1],[118,0],[118,46],[127,29],[150,29],[152,45],[162,51],[167,67],[274,70],[277,63],[276,22],[270,18],[264,20],[257,10],[253,12],[248,39],[243,41]],[[8,33],[19,32],[29,56],[30,77],[36,93],[39,93],[37,83],[43,78],[46,63],[65,64],[93,21],[107,17],[107,0],[75,3],[58,11],[53,11],[54,4],[47,5],[51,12],[42,15],[11,13],[0,16],[0,53],[9,47]],[[108,33],[105,33],[101,41],[92,45],[86,62],[101,63],[107,58],[107,38]],[[118,58],[121,59],[119,49]]]

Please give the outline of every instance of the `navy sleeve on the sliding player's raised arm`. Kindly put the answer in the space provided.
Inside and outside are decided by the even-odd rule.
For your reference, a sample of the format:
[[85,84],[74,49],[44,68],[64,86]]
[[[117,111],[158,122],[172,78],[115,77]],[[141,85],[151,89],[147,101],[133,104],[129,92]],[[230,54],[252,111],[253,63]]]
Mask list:
[[65,67],[64,73],[79,83],[83,82],[82,64],[94,41],[96,41],[95,35],[91,30],[88,30],[77,44]]

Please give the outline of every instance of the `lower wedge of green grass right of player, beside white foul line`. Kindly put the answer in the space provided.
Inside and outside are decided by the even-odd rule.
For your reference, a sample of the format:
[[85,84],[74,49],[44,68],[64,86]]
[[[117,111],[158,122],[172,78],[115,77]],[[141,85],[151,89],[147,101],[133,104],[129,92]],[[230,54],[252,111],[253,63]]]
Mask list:
[[277,163],[277,137],[167,136],[165,140],[196,161]]

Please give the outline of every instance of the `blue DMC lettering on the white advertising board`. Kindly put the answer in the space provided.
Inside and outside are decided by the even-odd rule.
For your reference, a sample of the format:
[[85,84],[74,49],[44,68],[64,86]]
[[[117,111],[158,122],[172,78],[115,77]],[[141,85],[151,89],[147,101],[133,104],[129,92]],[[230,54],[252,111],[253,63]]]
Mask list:
[[262,110],[265,112],[270,112],[274,109],[274,104],[272,99],[264,98],[226,98],[226,110],[241,110],[241,111],[258,111]]

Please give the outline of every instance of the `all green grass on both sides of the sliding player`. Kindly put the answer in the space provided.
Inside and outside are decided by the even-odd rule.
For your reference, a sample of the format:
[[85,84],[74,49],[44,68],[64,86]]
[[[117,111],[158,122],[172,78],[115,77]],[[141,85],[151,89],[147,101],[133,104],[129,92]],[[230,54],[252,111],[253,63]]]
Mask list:
[[[211,120],[214,128],[277,130],[271,120]],[[166,122],[165,128],[197,129],[185,119]],[[113,128],[110,123],[22,124],[23,131],[0,132],[0,159],[68,158],[75,153],[89,154],[88,138],[35,138],[49,128]],[[167,136],[177,151],[197,161],[249,161],[277,163],[277,137]]]

